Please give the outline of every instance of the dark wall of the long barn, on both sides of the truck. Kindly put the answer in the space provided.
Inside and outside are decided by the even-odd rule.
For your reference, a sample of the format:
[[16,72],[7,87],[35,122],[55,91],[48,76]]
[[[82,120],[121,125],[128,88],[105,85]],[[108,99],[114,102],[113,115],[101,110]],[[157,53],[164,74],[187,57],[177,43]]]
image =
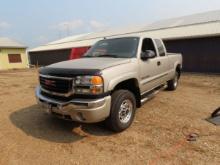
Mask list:
[[[220,37],[164,40],[168,52],[182,53],[186,72],[220,73]],[[70,58],[71,49],[29,52],[32,65],[50,65]]]

